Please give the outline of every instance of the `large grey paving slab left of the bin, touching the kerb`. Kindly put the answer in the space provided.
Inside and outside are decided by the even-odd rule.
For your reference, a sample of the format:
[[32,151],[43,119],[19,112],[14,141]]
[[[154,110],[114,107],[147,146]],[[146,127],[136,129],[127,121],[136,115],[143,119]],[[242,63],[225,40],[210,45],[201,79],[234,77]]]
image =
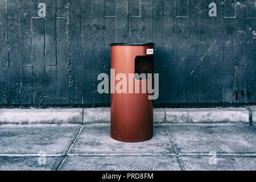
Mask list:
[[1,125],[0,154],[65,154],[80,125]]

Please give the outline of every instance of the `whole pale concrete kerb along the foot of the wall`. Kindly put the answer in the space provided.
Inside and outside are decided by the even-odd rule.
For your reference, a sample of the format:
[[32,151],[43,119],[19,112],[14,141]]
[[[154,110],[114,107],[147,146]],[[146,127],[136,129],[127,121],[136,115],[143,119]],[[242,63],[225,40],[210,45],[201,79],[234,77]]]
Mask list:
[[[155,123],[251,123],[256,122],[256,107],[158,108]],[[3,124],[88,124],[110,123],[110,107],[0,109]]]

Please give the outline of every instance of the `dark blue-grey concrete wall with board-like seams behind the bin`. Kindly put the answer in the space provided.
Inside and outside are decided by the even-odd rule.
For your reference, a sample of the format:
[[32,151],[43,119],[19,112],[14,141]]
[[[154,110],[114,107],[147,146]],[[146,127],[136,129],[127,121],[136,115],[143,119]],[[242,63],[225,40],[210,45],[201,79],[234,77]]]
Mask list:
[[[109,43],[154,42],[157,106],[256,102],[256,1],[1,0],[0,105],[104,106]],[[46,18],[38,4],[46,4]]]

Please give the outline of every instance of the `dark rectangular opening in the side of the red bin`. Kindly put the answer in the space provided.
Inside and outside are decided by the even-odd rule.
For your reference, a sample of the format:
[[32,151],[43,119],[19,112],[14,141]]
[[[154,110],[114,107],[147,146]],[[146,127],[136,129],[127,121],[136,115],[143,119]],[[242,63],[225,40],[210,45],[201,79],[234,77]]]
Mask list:
[[[154,55],[136,56],[134,73],[138,73],[139,75],[135,74],[137,80],[154,77]],[[148,73],[151,73],[152,76],[149,77],[147,75]],[[144,77],[144,75],[146,75],[146,77]]]

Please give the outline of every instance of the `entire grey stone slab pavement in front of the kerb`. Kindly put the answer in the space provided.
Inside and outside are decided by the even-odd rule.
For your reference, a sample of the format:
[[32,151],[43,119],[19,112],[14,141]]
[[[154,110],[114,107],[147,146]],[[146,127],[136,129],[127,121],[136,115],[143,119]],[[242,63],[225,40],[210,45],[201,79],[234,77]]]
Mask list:
[[248,123],[155,124],[140,143],[106,123],[0,125],[0,170],[255,170],[255,137]]

